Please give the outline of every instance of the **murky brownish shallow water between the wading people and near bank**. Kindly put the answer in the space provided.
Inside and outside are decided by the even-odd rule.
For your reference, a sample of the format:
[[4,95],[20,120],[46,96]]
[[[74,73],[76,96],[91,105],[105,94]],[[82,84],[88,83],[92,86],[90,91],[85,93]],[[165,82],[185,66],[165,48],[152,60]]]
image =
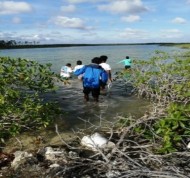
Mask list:
[[[113,82],[107,94],[100,95],[98,103],[94,102],[91,96],[89,102],[84,101],[82,82],[78,79],[70,80],[69,85],[59,83],[58,86],[59,90],[56,93],[48,94],[46,97],[48,100],[58,101],[64,115],[55,118],[55,122],[48,128],[40,131],[32,130],[10,139],[4,148],[5,152],[18,149],[35,150],[40,146],[63,144],[55,131],[55,124],[61,137],[70,140],[75,137],[74,132],[79,129],[91,127],[93,132],[100,127],[109,128],[106,124],[116,122],[117,116],[139,118],[150,107],[148,101],[128,95],[125,86],[119,81]],[[43,138],[42,144],[36,144],[38,137]]]

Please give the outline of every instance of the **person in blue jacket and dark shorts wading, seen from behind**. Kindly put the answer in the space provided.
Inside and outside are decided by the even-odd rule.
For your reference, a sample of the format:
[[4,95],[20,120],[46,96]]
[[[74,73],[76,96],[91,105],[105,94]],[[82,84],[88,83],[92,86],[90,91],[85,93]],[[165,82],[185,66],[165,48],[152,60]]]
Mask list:
[[94,101],[98,102],[100,95],[100,82],[106,83],[108,81],[107,72],[99,65],[100,58],[95,57],[89,65],[85,65],[81,69],[74,72],[74,75],[83,74],[83,93],[84,99],[89,101],[89,94],[92,93]]

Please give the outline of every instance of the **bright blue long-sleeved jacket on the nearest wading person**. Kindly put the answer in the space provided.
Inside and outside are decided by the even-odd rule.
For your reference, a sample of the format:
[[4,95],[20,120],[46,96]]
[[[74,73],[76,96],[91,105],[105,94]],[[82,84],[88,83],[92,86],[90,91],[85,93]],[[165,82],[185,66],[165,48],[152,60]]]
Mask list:
[[108,81],[107,72],[98,64],[85,65],[74,72],[77,76],[81,74],[83,74],[84,87],[99,88],[100,81],[103,83]]

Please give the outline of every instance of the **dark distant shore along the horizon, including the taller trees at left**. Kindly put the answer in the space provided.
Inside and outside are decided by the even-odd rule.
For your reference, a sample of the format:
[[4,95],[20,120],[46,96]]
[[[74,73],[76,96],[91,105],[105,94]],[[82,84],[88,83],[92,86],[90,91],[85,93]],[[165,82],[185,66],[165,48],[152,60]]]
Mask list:
[[22,48],[57,48],[57,47],[77,47],[77,46],[123,46],[123,45],[161,45],[177,46],[190,49],[190,43],[108,43],[108,44],[38,44],[37,42],[24,42],[17,44],[14,40],[0,41],[0,49],[22,49]]

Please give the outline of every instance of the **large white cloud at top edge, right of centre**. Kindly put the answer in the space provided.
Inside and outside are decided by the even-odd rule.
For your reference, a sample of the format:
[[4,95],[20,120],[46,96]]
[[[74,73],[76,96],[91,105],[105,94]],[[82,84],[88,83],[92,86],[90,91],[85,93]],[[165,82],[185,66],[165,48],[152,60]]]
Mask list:
[[114,0],[107,5],[98,6],[99,10],[108,11],[112,13],[140,13],[148,11],[141,0]]

